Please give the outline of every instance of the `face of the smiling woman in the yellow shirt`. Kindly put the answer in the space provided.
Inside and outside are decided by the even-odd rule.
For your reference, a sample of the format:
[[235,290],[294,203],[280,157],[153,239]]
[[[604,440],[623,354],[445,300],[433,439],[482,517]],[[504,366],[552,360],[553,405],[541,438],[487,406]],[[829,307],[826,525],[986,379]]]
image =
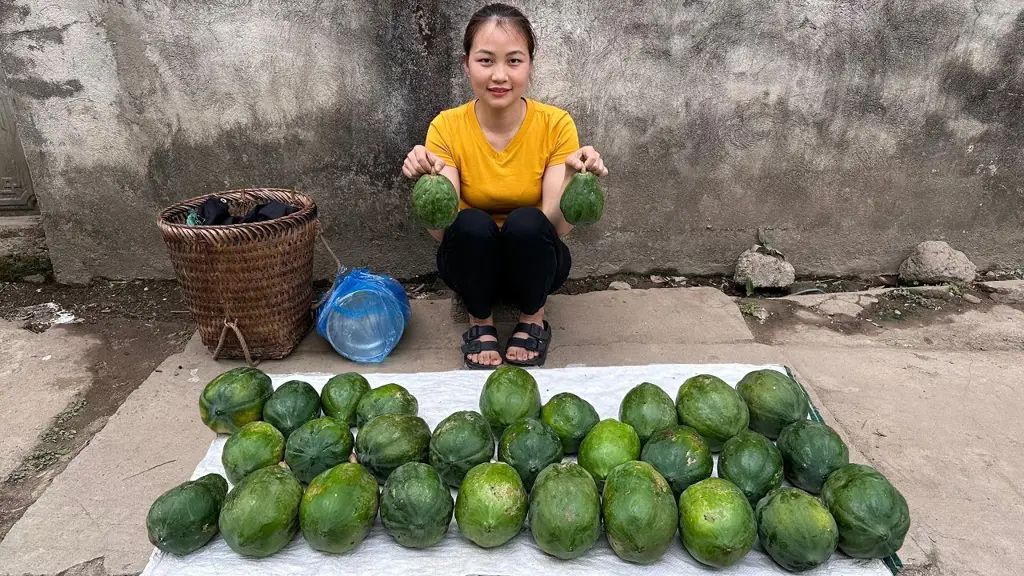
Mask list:
[[493,108],[517,104],[529,81],[526,40],[511,26],[485,23],[476,32],[464,68],[473,93]]

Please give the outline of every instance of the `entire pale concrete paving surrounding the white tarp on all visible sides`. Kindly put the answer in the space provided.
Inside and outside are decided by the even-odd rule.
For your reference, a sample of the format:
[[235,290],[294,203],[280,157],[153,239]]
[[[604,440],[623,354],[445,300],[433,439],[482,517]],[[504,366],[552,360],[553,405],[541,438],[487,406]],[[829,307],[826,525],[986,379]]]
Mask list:
[[[787,365],[847,441],[852,459],[878,467],[906,496],[912,525],[900,550],[904,574],[1024,574],[1015,531],[1024,520],[1024,424],[1018,417],[1024,401],[1014,394],[1024,380],[1021,307],[965,304],[954,296],[945,316],[925,315],[896,327],[874,328],[871,321],[869,329],[851,331],[849,317],[838,321],[813,296],[806,306],[799,298],[777,310],[777,300],[765,300],[772,310],[761,322],[749,302],[713,288],[553,296],[548,365]],[[260,368],[461,368],[464,327],[453,321],[451,301],[414,300],[413,306],[406,338],[383,364],[353,365],[311,334],[290,358]],[[500,328],[504,339],[511,327]],[[3,351],[13,358],[13,367],[10,361],[0,367],[0,416],[13,424],[7,429],[19,430],[0,439],[7,470],[65,409],[80,381],[75,369],[59,371],[66,380],[58,379],[41,358],[74,366],[94,342],[59,325],[42,334],[0,329]],[[237,365],[212,361],[198,336],[160,363],[67,467],[40,485],[0,542],[0,573],[140,572],[152,550],[148,505],[189,477],[213,438],[199,419],[200,390]]]

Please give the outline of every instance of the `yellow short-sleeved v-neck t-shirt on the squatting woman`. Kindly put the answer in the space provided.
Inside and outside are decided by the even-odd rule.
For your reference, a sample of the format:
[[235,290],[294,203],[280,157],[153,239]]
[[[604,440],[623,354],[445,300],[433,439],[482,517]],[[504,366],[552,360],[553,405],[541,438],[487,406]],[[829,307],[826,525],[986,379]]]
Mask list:
[[541,208],[544,170],[565,162],[580,148],[575,123],[567,112],[524,99],[526,117],[501,152],[483,135],[475,99],[441,112],[427,129],[427,150],[459,169],[459,208],[483,210],[498,225],[516,208]]

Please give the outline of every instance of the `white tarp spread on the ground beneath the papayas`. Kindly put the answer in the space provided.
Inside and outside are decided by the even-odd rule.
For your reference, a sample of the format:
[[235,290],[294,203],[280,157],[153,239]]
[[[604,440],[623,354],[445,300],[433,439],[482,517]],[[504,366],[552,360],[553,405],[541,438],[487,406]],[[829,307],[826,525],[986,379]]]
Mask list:
[[[618,404],[627,392],[640,382],[658,384],[675,399],[679,385],[695,374],[713,374],[731,385],[749,371],[773,368],[785,372],[782,366],[739,364],[673,364],[622,366],[604,368],[563,368],[530,370],[541,389],[541,401],[561,392],[571,392],[594,405],[602,418],[617,418]],[[479,395],[488,371],[459,370],[419,374],[367,374],[377,387],[397,382],[408,388],[420,403],[419,415],[433,429],[441,419],[459,410],[479,411]],[[332,374],[271,374],[274,387],[299,379],[317,390]],[[199,416],[197,415],[197,418]],[[210,445],[206,457],[196,467],[193,479],[209,472],[224,475],[220,454],[226,436],[218,436]],[[716,475],[717,475],[716,456]],[[226,477],[225,477],[226,478]],[[453,497],[456,492],[453,490]],[[187,557],[165,554],[155,549],[145,576],[284,576],[337,574],[538,574],[600,575],[718,575],[753,576],[788,574],[774,564],[755,543],[743,561],[729,569],[714,570],[694,561],[679,540],[679,532],[660,561],[638,566],[614,554],[604,536],[582,558],[560,561],[544,553],[535,544],[529,529],[524,527],[516,537],[497,548],[483,549],[459,533],[453,519],[444,539],[426,549],[399,546],[384,532],[378,517],[367,539],[345,554],[330,554],[313,550],[301,532],[284,549],[265,559],[248,559],[233,552],[219,534],[203,548]],[[837,550],[824,566],[804,572],[808,576],[890,576],[880,560],[859,561]]]

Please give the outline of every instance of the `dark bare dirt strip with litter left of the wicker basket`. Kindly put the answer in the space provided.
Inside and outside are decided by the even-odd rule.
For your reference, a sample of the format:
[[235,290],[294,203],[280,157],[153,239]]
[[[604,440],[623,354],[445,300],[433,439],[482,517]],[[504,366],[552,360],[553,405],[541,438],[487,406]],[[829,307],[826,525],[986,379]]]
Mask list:
[[88,361],[89,387],[0,483],[0,539],[157,366],[184,348],[195,330],[174,282],[0,284],[0,317],[41,332],[52,326],[54,314],[73,317],[65,329],[101,345]]

